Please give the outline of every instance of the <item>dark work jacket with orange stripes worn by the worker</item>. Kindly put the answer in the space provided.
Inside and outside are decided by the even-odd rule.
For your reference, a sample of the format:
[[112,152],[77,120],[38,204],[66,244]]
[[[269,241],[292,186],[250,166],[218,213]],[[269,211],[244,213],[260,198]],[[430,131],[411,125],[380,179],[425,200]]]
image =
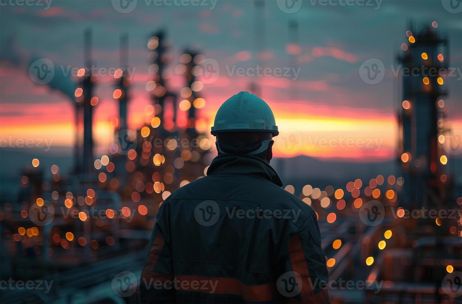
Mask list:
[[[161,205],[142,303],[329,303],[314,210],[255,156],[219,155]],[[323,283],[322,283],[323,282]]]

